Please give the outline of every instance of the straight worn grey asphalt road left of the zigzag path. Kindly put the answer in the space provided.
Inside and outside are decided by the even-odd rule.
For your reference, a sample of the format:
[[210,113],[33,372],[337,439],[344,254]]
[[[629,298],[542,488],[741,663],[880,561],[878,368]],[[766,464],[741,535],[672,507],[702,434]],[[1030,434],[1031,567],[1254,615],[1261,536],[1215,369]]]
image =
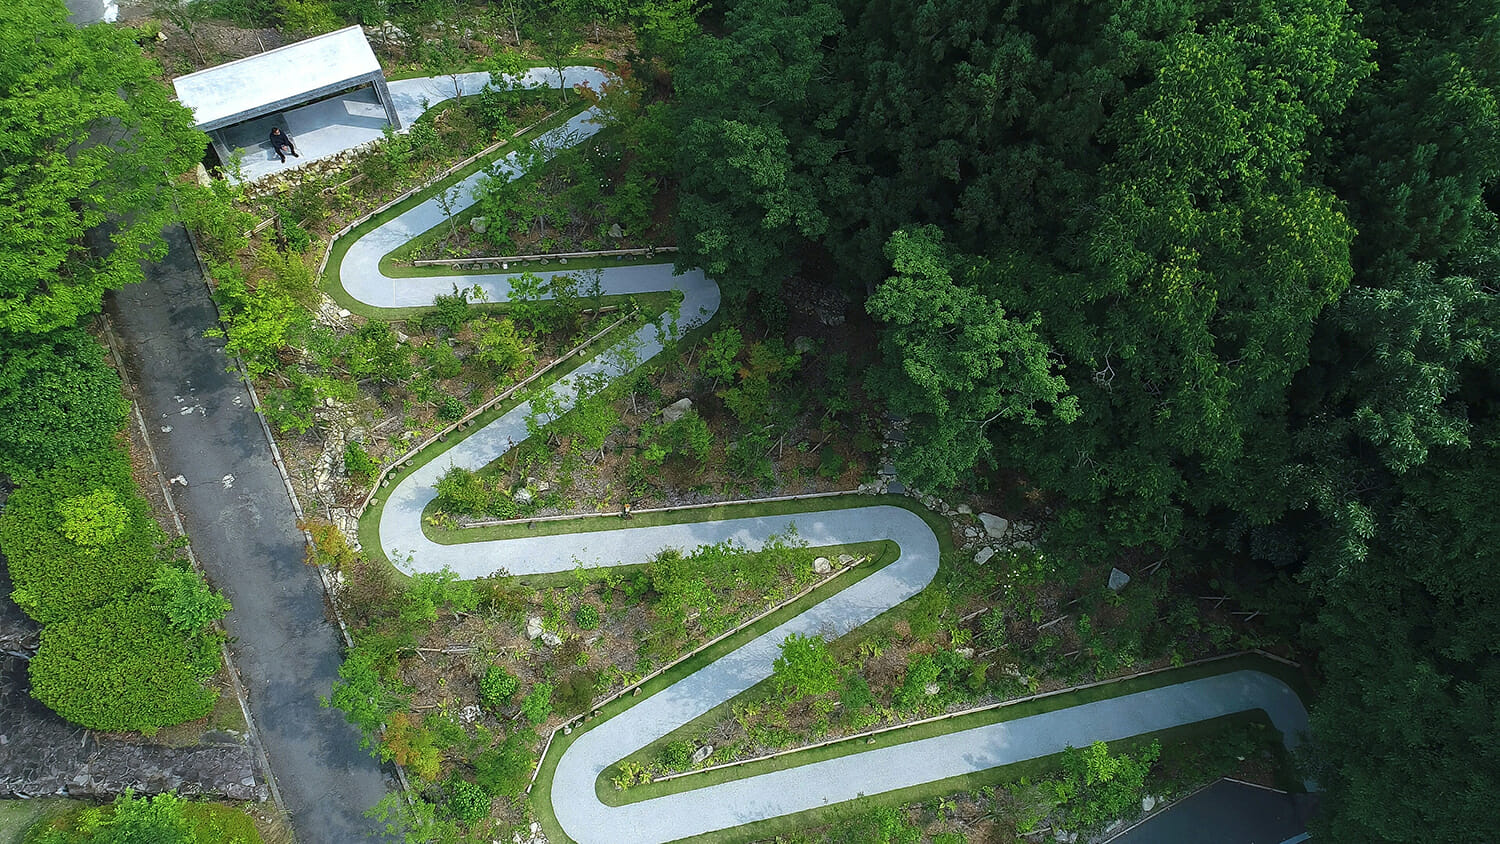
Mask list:
[[300,844],[368,841],[364,810],[394,789],[344,714],[318,705],[340,639],[250,396],[224,343],[186,232],[146,283],[110,297],[136,400],[210,582],[234,603],[230,651]]

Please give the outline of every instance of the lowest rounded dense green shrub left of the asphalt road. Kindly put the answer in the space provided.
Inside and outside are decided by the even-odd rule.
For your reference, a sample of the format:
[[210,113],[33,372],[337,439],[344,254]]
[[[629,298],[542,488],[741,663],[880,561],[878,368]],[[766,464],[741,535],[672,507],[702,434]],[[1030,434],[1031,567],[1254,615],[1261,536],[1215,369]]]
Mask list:
[[154,733],[202,718],[216,693],[202,678],[218,654],[192,652],[144,594],[42,628],[32,696],[69,721],[104,732]]

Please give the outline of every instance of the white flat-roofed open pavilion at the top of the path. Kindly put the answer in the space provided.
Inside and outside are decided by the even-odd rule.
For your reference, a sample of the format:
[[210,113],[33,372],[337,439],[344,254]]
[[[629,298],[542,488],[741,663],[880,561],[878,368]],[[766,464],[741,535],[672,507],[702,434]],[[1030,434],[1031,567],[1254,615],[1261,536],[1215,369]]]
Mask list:
[[[364,85],[363,93],[320,102]],[[280,166],[267,139],[272,126],[292,136],[302,162],[356,145],[350,129],[368,141],[364,135],[378,138],[387,123],[402,127],[386,73],[357,25],[177,76],[172,87],[220,160],[230,162],[234,148],[250,153],[242,165],[250,180]]]

